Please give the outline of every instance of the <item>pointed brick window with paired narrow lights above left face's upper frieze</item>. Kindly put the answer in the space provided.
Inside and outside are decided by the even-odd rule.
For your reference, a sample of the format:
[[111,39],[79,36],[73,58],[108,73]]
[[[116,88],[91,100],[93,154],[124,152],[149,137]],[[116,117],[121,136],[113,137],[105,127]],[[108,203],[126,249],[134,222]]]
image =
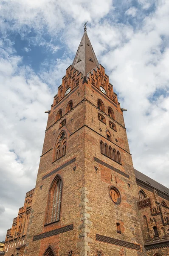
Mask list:
[[61,131],[56,141],[53,162],[63,157],[66,154],[66,143],[67,143],[66,133],[65,131]]

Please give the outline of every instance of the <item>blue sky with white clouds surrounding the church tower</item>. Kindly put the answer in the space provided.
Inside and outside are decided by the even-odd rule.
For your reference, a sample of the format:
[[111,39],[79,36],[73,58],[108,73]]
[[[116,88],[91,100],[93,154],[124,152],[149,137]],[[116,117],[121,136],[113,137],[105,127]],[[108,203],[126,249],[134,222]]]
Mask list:
[[169,186],[169,1],[0,0],[0,240],[35,186],[53,96],[88,20],[134,167]]

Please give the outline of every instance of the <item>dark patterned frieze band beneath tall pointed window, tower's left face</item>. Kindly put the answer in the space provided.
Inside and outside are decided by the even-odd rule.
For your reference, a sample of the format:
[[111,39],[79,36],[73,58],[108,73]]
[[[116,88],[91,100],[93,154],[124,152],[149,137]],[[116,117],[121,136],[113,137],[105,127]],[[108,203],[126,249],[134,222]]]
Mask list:
[[49,237],[49,236],[59,235],[60,233],[65,233],[65,232],[68,232],[70,230],[73,230],[73,224],[70,224],[70,225],[65,226],[65,227],[57,228],[56,230],[51,230],[51,231],[36,235],[36,236],[34,236],[33,241],[37,241],[39,239],[43,239],[43,238],[46,238],[46,237]]

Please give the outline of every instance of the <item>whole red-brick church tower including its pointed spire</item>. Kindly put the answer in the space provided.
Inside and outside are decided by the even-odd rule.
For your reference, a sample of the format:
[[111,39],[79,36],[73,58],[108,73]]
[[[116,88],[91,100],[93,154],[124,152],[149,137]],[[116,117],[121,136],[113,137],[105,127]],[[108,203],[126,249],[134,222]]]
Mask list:
[[123,109],[84,35],[54,96],[24,256],[144,256]]

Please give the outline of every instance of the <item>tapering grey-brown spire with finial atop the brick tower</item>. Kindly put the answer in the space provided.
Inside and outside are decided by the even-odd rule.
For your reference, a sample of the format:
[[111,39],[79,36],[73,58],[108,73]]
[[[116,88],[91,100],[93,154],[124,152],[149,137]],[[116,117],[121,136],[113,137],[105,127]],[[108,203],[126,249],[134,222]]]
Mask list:
[[86,30],[87,28],[85,26],[82,40],[79,44],[72,64],[72,66],[79,70],[79,72],[81,72],[84,76],[99,65]]

